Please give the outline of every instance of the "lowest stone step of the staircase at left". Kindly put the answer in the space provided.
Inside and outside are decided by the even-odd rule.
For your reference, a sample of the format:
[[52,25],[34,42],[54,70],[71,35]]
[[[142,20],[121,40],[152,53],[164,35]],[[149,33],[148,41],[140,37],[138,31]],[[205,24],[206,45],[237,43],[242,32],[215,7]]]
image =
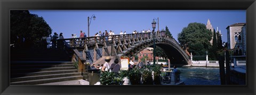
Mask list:
[[34,85],[34,84],[44,84],[52,82],[61,82],[61,81],[71,81],[71,80],[80,80],[83,79],[82,75],[78,76],[68,76],[68,77],[55,77],[51,79],[39,79],[39,80],[30,80],[30,81],[19,81],[11,82],[11,85]]

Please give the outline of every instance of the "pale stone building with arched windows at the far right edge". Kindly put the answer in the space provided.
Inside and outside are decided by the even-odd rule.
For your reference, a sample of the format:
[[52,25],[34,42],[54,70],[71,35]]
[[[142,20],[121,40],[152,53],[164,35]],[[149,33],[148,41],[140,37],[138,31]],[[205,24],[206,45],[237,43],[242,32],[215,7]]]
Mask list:
[[239,48],[246,54],[246,23],[235,23],[227,28],[228,49]]

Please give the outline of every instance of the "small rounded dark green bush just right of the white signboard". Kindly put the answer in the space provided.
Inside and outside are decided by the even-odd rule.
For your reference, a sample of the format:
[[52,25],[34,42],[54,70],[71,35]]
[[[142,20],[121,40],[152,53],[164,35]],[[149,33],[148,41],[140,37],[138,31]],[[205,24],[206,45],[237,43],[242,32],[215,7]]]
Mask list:
[[133,68],[130,72],[129,72],[129,79],[132,85],[139,85],[140,84],[140,78],[141,78],[141,69],[139,68]]

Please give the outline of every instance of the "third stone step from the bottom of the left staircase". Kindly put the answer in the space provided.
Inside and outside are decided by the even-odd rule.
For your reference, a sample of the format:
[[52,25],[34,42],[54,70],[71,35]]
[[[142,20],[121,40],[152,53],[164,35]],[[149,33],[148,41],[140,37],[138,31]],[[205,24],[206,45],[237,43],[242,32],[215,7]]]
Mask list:
[[49,74],[63,74],[63,73],[76,73],[77,70],[60,70],[60,71],[43,71],[31,73],[11,73],[10,77],[23,77],[23,76],[36,76],[36,75],[49,75]]

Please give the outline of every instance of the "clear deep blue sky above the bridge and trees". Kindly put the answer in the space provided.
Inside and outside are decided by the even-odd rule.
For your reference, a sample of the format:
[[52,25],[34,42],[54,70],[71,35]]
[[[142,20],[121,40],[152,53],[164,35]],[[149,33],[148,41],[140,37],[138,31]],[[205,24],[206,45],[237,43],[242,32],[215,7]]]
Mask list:
[[[152,31],[151,22],[159,18],[159,30],[167,26],[177,40],[178,33],[189,23],[206,24],[210,19],[215,30],[221,30],[222,41],[227,41],[227,27],[234,23],[246,22],[246,10],[29,10],[31,14],[42,16],[52,28],[52,34],[63,33],[65,38],[79,31],[87,34],[87,17],[94,14],[95,20],[90,24],[90,36],[96,32],[112,30],[132,33],[137,30]],[[157,26],[156,26],[157,29]],[[178,40],[177,40],[178,41]]]

